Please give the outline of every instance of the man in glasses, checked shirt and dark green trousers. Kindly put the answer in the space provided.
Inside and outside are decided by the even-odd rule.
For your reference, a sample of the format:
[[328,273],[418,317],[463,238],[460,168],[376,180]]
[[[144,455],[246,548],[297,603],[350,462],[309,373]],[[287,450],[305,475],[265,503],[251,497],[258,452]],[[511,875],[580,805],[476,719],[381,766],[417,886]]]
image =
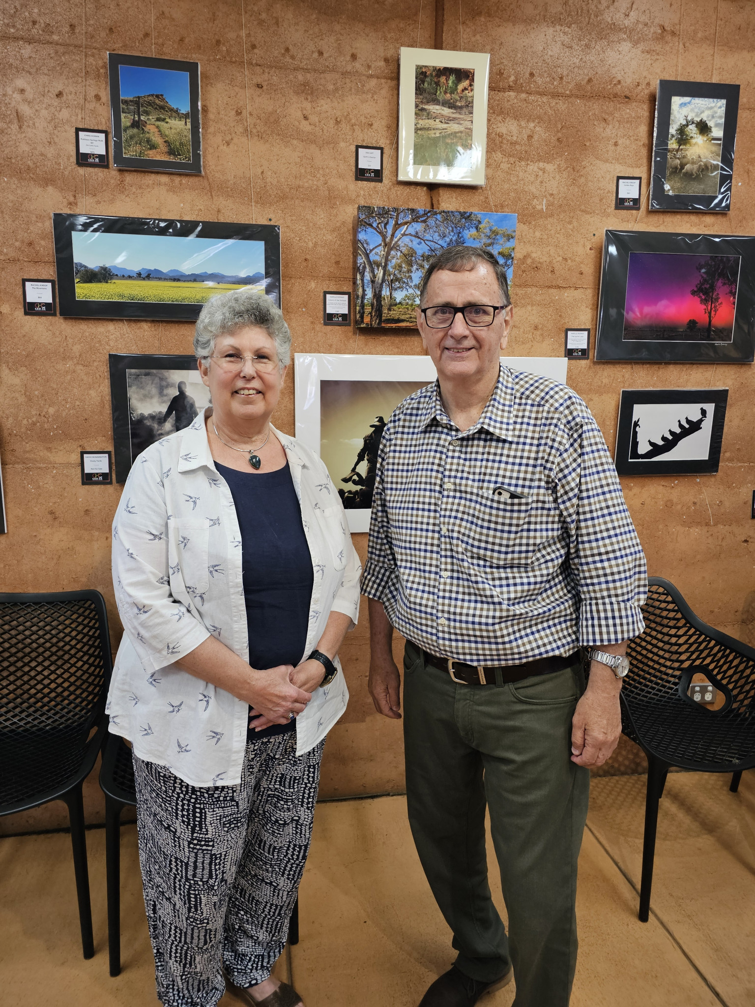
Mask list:
[[[421,1007],[471,1007],[511,967],[515,1007],[566,1007],[589,767],[621,731],[644,557],[584,402],[500,366],[512,309],[495,257],[445,250],[420,303],[438,381],[383,435],[361,590],[369,691],[387,717],[401,717],[394,627],[407,639],[409,818],[458,952]],[[487,883],[486,806],[508,939]]]

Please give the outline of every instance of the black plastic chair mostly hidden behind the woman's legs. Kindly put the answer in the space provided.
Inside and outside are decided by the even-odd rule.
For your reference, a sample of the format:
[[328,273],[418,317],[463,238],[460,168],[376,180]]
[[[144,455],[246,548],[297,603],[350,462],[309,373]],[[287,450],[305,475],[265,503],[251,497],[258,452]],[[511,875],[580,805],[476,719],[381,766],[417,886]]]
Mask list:
[[[108,877],[108,951],[110,974],[121,974],[121,813],[136,806],[134,762],[131,749],[116,734],[109,734],[103,750],[100,786],[105,794],[105,850]],[[289,944],[299,943],[299,899],[288,928]]]

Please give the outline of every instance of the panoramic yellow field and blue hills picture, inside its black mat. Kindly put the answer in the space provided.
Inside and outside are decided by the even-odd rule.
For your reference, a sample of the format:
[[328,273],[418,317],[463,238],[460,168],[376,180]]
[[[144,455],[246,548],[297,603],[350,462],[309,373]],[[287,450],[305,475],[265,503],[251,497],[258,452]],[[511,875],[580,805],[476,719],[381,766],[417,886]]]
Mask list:
[[240,287],[265,292],[265,243],[71,233],[79,301],[203,304]]

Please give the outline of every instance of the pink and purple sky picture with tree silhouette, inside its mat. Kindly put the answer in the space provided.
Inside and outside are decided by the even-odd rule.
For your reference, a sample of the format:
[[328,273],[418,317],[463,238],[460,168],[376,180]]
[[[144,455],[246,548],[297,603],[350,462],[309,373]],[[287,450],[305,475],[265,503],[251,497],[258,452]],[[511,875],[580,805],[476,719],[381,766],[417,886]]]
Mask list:
[[739,256],[631,252],[625,340],[731,342]]

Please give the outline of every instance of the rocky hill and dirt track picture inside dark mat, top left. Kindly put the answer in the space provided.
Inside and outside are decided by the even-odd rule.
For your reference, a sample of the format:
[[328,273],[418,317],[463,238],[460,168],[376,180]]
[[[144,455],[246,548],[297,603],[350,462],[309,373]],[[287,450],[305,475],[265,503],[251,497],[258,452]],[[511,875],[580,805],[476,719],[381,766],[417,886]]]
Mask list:
[[119,75],[124,156],[190,161],[188,74],[121,65]]

